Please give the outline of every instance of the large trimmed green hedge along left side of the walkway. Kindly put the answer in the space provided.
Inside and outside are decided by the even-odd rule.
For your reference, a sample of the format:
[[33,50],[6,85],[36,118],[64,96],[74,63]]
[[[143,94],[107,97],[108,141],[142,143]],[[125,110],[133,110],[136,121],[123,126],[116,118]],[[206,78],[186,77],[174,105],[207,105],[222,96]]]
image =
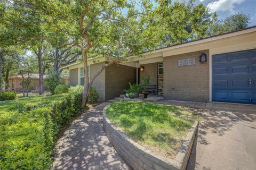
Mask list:
[[0,169],[50,169],[57,134],[81,103],[82,94],[68,93],[0,106]]

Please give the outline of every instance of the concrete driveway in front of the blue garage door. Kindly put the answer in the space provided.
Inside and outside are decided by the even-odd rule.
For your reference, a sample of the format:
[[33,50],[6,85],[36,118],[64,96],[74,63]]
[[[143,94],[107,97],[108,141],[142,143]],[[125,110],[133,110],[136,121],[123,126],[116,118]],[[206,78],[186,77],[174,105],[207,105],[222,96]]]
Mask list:
[[208,103],[187,169],[255,169],[256,106]]

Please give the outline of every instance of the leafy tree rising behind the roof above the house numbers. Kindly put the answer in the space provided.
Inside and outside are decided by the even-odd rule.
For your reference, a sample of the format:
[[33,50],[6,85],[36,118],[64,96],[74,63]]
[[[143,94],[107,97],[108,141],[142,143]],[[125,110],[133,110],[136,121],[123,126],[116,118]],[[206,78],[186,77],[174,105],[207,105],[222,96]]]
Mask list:
[[210,13],[203,4],[190,1],[158,0],[155,20],[161,24],[158,33],[160,46],[185,43],[187,41],[211,35],[211,25],[217,21],[217,15]]

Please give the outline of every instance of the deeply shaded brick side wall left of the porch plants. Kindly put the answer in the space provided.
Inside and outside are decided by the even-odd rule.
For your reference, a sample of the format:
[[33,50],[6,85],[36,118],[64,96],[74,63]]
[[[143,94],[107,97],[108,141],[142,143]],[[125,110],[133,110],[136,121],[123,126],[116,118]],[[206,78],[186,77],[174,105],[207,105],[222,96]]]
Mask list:
[[113,99],[124,94],[129,88],[129,82],[136,82],[136,68],[126,65],[113,64],[106,68],[105,100]]

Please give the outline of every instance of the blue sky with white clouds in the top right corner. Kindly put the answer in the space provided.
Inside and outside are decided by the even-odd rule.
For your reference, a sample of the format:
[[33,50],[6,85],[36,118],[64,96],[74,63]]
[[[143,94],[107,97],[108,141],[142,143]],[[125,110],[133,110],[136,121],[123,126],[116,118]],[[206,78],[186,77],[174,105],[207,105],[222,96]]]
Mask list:
[[217,12],[219,19],[238,12],[250,15],[249,27],[256,25],[256,0],[196,0],[196,3],[203,3],[212,12]]

